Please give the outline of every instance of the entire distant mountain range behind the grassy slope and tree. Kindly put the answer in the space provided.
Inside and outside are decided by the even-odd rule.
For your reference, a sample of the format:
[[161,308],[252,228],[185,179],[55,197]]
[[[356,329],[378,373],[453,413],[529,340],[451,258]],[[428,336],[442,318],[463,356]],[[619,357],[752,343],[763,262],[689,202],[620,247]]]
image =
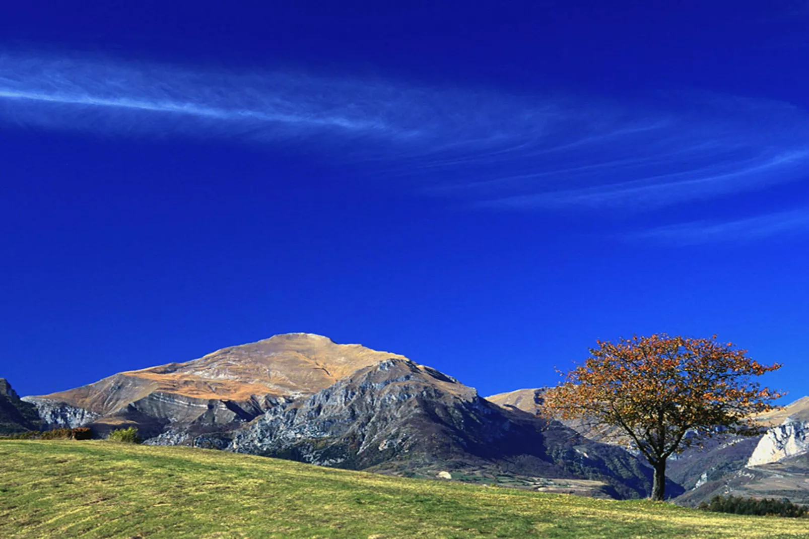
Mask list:
[[[11,402],[2,388],[0,428],[11,418],[2,415],[2,399]],[[103,436],[133,426],[146,444],[194,445],[413,477],[441,472],[461,481],[612,498],[646,497],[651,487],[651,469],[621,447],[620,439],[604,432],[591,439],[581,426],[537,418],[539,390],[485,399],[400,354],[341,345],[311,333],[277,335],[186,363],[125,371],[41,397],[15,395],[14,402],[24,419],[14,416],[17,430],[87,426]],[[809,409],[806,404],[798,408]],[[720,483],[738,483],[731,475],[745,469],[753,445],[745,440],[732,446],[737,449],[731,460],[728,448],[718,445],[672,461],[667,492],[692,503],[700,493],[724,488],[717,487]],[[793,456],[795,448],[784,447],[765,460]],[[709,484],[714,487],[708,492]]]

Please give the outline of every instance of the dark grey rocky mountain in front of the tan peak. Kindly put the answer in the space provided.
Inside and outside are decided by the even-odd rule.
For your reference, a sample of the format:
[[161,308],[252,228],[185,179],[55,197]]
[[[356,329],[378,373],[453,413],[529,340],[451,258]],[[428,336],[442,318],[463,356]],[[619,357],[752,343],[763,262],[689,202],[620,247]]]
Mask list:
[[[620,448],[531,414],[502,410],[459,381],[408,359],[356,371],[320,393],[277,406],[238,431],[230,451],[349,469],[482,481],[504,473],[603,482],[601,494],[644,496],[650,473]],[[671,485],[676,490],[676,485]]]

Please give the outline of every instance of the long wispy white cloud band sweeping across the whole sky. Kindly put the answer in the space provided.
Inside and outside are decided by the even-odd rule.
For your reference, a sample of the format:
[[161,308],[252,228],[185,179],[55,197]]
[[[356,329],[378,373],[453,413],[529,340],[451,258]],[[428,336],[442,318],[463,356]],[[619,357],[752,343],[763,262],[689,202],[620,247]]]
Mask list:
[[356,78],[0,55],[0,121],[297,144],[470,206],[653,210],[802,179],[809,115],[714,96],[637,108]]

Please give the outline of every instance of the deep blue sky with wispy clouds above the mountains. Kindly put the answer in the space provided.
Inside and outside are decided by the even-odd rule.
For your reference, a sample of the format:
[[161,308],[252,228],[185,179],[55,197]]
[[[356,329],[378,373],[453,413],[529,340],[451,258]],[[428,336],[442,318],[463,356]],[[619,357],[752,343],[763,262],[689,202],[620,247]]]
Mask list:
[[304,331],[490,394],[664,331],[809,394],[809,4],[163,3],[0,21],[20,393]]

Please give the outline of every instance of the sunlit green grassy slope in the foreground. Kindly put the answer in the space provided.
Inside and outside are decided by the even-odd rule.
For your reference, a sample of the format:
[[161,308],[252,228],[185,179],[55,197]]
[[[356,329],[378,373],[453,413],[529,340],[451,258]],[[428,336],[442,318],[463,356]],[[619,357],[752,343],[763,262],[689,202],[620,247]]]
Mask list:
[[0,537],[809,537],[809,521],[201,449],[0,440]]

